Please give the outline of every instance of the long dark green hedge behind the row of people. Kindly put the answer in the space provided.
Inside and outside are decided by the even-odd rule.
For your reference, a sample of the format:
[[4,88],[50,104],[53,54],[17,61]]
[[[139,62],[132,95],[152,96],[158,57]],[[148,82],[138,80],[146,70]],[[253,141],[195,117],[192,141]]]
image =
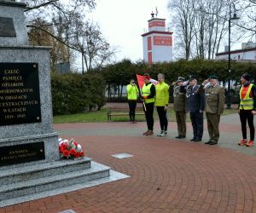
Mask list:
[[[151,67],[143,61],[131,63],[131,60],[122,60],[119,63],[106,66],[102,69],[102,74],[108,83],[114,85],[126,85],[131,78],[136,79],[136,74],[148,72],[151,78],[156,79],[159,73],[166,76],[166,82],[177,81],[179,76],[189,78],[193,74],[199,78],[201,83],[210,75],[217,75],[220,81],[229,78],[227,60],[177,60],[174,62],[154,63]],[[256,78],[256,64],[249,62],[231,61],[231,78],[239,80],[241,74],[249,72],[252,78]]]

